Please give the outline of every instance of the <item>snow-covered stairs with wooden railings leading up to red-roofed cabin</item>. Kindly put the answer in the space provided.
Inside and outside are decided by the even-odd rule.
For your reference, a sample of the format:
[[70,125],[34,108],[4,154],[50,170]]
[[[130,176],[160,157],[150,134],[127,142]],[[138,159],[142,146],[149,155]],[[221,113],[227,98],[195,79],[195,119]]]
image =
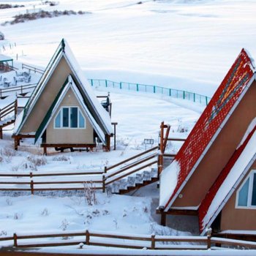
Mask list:
[[114,194],[125,194],[158,181],[157,150],[158,146],[105,167],[106,190]]

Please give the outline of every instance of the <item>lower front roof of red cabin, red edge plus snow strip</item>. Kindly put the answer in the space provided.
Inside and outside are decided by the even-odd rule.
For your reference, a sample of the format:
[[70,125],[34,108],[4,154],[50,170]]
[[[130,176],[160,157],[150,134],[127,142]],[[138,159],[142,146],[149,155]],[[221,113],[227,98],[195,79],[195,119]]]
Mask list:
[[[255,121],[254,121],[255,124]],[[236,190],[256,157],[256,126],[249,132],[244,142],[237,148],[222,173],[218,176],[198,209],[200,233],[214,222],[227,200]]]

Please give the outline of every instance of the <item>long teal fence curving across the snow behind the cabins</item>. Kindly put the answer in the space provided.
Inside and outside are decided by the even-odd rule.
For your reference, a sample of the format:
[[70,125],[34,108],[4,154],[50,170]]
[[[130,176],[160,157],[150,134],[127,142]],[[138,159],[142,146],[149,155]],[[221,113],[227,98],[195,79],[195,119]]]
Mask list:
[[102,79],[89,79],[91,86],[100,86],[107,88],[116,88],[116,89],[125,89],[129,91],[143,91],[152,94],[162,94],[167,97],[173,97],[177,99],[187,99],[192,102],[197,102],[203,105],[208,105],[210,97],[196,94],[194,92],[182,91],[177,89],[170,89],[161,86],[150,86],[140,83],[127,83],[127,82],[114,82],[111,80],[102,80]]

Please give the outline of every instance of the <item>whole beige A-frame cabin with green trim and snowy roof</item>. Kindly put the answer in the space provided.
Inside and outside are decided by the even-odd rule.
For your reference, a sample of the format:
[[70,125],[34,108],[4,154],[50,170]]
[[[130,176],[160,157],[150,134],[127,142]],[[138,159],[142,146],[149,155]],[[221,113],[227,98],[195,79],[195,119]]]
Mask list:
[[62,39],[24,110],[15,121],[15,149],[22,138],[41,146],[110,149],[110,115],[99,103],[67,42]]

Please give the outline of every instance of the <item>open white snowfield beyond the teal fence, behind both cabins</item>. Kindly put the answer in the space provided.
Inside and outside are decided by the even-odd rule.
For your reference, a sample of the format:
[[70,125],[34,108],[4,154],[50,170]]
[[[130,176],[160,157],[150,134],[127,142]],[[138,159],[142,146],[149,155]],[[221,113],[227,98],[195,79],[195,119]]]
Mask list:
[[[211,96],[241,48],[256,56],[254,0],[2,0],[25,7],[0,10],[0,23],[38,10],[85,15],[0,26],[13,56],[45,67],[67,39],[89,78],[159,84]],[[12,51],[11,51],[12,52]]]

